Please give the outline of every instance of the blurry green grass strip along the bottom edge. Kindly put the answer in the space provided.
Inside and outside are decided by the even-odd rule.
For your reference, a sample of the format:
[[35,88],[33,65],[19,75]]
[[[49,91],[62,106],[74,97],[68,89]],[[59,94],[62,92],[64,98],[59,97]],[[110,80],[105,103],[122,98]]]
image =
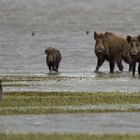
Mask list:
[[1,140],[139,140],[140,135],[0,134]]

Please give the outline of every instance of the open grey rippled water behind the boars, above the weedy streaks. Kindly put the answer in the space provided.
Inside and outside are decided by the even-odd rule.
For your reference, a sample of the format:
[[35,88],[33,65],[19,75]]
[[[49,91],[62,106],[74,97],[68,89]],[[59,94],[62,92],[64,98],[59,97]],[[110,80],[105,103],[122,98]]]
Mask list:
[[93,32],[137,35],[139,14],[139,0],[0,0],[0,73],[47,73],[49,46],[62,52],[60,72],[93,72]]

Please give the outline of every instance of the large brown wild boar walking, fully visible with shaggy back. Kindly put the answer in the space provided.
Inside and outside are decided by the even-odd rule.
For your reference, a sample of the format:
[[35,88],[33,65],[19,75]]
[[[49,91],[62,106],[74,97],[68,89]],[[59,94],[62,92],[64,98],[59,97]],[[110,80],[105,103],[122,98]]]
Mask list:
[[94,39],[94,51],[98,59],[95,72],[98,72],[105,60],[109,61],[110,73],[114,72],[115,63],[119,70],[123,71],[122,60],[129,63],[129,70],[131,70],[132,60],[129,55],[129,44],[125,38],[111,32],[99,34],[94,32]]

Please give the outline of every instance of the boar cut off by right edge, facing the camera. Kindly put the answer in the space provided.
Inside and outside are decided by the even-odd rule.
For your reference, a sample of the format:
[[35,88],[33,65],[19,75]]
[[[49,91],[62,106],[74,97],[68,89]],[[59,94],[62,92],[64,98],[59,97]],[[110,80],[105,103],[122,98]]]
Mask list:
[[132,58],[132,74],[134,76],[136,71],[136,62],[139,63],[138,74],[140,74],[140,36],[131,37],[128,35],[127,41],[130,45],[129,53]]

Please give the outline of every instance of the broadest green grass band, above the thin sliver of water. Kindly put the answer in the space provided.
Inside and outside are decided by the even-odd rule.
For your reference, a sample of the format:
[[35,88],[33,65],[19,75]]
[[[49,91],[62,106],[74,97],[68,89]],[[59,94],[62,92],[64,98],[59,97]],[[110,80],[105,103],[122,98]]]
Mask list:
[[11,92],[5,93],[0,107],[84,104],[140,104],[139,93]]

